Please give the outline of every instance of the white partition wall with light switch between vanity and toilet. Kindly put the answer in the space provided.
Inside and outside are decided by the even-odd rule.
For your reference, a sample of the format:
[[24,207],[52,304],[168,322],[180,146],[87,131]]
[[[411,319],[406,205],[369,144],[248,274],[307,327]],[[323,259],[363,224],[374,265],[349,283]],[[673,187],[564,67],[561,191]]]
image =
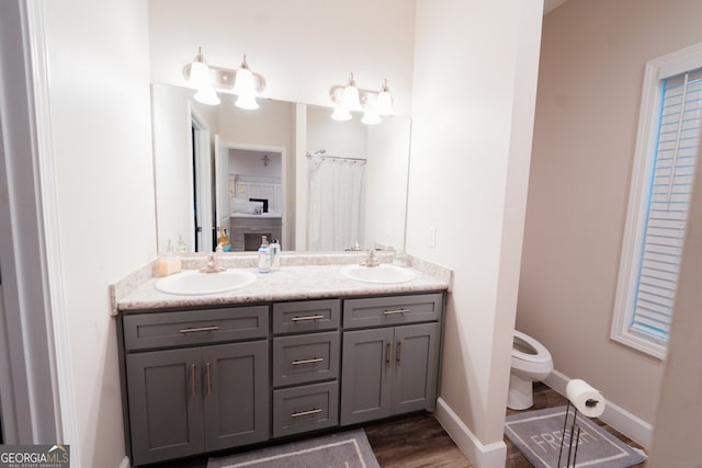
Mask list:
[[417,2],[407,250],[454,271],[440,419],[478,467],[505,465],[542,7]]

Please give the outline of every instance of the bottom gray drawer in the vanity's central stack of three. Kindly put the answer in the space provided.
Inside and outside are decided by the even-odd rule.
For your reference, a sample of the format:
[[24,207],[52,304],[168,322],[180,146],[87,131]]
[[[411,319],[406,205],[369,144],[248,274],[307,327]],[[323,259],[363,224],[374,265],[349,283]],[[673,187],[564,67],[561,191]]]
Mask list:
[[339,424],[337,381],[273,391],[273,437]]

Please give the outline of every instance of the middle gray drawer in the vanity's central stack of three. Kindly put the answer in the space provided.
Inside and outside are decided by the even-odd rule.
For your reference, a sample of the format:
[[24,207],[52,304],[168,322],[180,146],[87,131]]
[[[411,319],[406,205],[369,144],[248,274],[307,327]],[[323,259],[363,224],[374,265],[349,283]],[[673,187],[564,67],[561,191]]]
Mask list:
[[273,386],[338,378],[339,343],[338,331],[274,338]]

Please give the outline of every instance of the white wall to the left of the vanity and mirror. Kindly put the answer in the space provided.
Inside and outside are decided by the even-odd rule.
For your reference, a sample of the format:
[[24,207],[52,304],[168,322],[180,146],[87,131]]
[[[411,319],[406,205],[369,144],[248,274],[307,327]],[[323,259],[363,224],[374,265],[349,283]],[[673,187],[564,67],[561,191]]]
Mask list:
[[82,467],[115,467],[124,441],[107,285],[156,254],[147,8],[141,0],[41,4],[80,432],[73,456]]

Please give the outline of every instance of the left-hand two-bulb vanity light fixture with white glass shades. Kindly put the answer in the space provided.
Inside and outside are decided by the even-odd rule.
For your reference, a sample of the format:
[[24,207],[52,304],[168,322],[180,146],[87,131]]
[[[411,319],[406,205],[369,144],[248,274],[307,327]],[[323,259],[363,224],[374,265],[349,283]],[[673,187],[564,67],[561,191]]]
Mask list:
[[[206,72],[202,71],[203,67]],[[263,76],[251,71],[249,64],[246,61],[246,54],[244,55],[241,68],[233,70],[230,68],[205,65],[202,47],[200,47],[193,62],[183,67],[183,76],[197,90],[194,98],[210,105],[219,104],[217,90],[236,94],[235,105],[239,109],[259,109],[256,96],[265,90],[265,79]]]

